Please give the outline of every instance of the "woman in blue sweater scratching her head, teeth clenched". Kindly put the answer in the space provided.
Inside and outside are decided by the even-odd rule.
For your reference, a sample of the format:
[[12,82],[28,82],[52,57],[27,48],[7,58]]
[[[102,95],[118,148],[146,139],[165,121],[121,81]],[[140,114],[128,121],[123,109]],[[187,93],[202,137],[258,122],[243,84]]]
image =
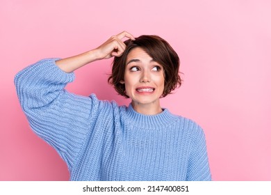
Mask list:
[[[129,107],[65,91],[74,70],[112,56],[108,81]],[[211,180],[201,127],[160,104],[181,85],[178,71],[165,40],[124,31],[89,52],[38,61],[15,85],[32,129],[65,160],[70,180]]]

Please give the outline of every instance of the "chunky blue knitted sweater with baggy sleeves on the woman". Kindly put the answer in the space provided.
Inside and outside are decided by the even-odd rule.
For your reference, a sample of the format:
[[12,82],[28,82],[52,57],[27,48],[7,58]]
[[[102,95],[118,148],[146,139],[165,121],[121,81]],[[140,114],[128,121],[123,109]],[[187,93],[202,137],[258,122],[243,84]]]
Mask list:
[[147,116],[64,88],[74,80],[43,59],[15,76],[33,131],[67,163],[70,180],[211,180],[204,132],[188,118]]

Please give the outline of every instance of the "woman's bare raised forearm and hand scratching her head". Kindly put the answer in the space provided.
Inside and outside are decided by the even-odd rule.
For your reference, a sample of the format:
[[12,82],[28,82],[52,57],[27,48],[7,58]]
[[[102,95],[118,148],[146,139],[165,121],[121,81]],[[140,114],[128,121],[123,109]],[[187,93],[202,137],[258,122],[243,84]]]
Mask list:
[[101,59],[109,59],[113,56],[122,56],[126,45],[122,41],[123,38],[130,38],[134,40],[131,33],[123,31],[122,33],[117,34],[116,36],[110,37],[106,42],[83,54],[69,57],[67,59],[61,59],[56,61],[56,65],[65,71],[73,72],[74,70],[81,68],[83,65],[91,63],[92,61],[97,61]]

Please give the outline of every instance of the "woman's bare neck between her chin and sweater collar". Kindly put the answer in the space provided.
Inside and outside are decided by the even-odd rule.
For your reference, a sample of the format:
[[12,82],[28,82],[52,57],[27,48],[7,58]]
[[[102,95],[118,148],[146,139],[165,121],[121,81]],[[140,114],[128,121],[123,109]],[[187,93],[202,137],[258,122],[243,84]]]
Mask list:
[[133,109],[140,114],[145,115],[155,115],[160,114],[163,109],[161,108],[160,104],[139,104],[137,102],[132,102]]

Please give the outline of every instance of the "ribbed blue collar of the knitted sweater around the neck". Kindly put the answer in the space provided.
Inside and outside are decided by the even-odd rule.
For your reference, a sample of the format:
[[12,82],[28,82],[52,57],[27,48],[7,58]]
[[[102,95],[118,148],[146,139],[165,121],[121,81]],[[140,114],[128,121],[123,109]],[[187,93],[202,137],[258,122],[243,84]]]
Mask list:
[[126,107],[126,122],[145,130],[158,130],[170,126],[177,119],[177,116],[170,113],[168,109],[163,109],[160,114],[145,115],[133,109],[132,104]]

